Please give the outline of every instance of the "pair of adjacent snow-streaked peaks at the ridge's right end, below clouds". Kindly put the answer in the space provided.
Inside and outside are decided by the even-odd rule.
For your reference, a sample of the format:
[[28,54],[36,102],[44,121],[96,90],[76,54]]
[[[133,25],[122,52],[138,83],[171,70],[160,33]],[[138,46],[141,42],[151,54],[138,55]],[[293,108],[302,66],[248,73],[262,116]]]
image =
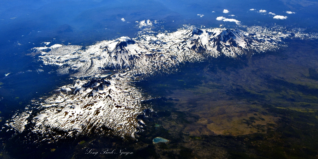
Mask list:
[[[194,28],[186,40],[186,46],[204,56],[237,57],[254,50],[263,52],[277,47],[279,39],[270,36],[244,33],[239,29],[198,29]],[[182,46],[180,46],[182,47]],[[186,49],[186,48],[185,48]]]

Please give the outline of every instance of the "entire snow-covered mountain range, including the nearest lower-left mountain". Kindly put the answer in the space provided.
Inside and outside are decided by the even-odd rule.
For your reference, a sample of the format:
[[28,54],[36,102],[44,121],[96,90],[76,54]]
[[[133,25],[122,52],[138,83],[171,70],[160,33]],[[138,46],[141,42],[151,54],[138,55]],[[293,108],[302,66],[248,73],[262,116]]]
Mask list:
[[[152,26],[149,20],[142,24]],[[184,62],[274,51],[284,45],[282,38],[304,37],[299,32],[266,32],[258,27],[247,30],[185,26],[172,33],[142,33],[134,39],[100,41],[85,49],[74,45],[36,47],[34,50],[41,52],[39,58],[44,64],[58,65],[58,74],[70,74],[77,79],[74,84],[55,90],[56,94],[44,101],[35,102],[37,110],[16,114],[7,125],[22,132],[27,131],[25,125],[31,121],[32,133],[47,134],[57,129],[72,136],[112,131],[134,137],[143,125],[136,118],[146,109],[141,101],[150,97],[142,94],[133,82],[158,73],[173,73]],[[51,51],[42,51],[47,48]]]

